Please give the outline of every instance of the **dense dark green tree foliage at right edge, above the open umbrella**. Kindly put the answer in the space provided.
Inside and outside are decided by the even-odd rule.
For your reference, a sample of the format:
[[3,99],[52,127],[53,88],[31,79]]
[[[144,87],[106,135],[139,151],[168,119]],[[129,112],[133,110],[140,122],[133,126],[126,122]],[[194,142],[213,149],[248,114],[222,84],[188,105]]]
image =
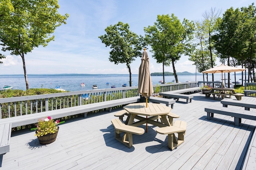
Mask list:
[[[224,13],[218,33],[212,36],[218,55],[228,65],[242,64],[248,68],[248,81],[255,82],[256,7],[230,8]],[[243,74],[242,74],[243,75]],[[243,76],[242,76],[243,77]],[[228,75],[228,80],[230,79]]]

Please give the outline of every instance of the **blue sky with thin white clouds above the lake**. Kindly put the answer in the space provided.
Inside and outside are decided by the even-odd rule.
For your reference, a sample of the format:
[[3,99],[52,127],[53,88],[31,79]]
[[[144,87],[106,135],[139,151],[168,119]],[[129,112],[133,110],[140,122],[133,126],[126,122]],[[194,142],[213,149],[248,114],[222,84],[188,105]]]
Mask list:
[[[228,8],[248,7],[254,0],[59,0],[60,14],[69,14],[66,25],[55,30],[55,41],[35,48],[25,55],[27,74],[129,74],[126,64],[108,60],[108,47],[98,38],[104,29],[118,21],[128,23],[130,30],[144,35],[144,27],[154,25],[157,15],[174,14],[181,21],[201,20],[211,8],[224,13]],[[0,64],[0,74],[24,74],[20,56],[6,55]],[[162,64],[150,57],[150,72],[162,72]],[[177,72],[196,72],[196,67],[182,56],[175,64]],[[217,62],[217,64],[219,64]],[[140,57],[131,64],[132,74],[138,74]],[[173,72],[172,66],[164,68]]]

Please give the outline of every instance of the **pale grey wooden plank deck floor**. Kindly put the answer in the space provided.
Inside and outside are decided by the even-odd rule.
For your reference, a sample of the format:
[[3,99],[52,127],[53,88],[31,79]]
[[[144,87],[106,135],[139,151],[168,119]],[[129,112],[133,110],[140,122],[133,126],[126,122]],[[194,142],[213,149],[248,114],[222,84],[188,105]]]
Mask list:
[[[234,96],[232,99],[236,100]],[[59,125],[58,137],[49,145],[40,145],[34,131],[13,132],[10,152],[3,156],[0,169],[240,169],[256,121],[242,119],[244,124],[235,127],[230,116],[216,114],[208,120],[204,107],[222,106],[220,99],[197,93],[193,100],[186,104],[180,99],[172,109],[180,115],[177,120],[187,122],[184,143],[177,149],[170,150],[167,135],[156,133],[157,127],[152,125],[148,133],[133,135],[131,149],[122,145],[115,140],[111,123],[120,110],[116,109],[66,121]],[[256,102],[256,98],[243,97],[242,101]]]

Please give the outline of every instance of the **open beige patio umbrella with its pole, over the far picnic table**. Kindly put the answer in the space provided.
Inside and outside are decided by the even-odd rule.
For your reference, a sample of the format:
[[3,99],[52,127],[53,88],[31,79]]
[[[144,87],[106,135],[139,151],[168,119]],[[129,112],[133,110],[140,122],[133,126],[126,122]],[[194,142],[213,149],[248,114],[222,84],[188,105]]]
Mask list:
[[225,66],[221,64],[220,66],[216,66],[214,68],[210,68],[208,70],[203,71],[202,73],[221,73],[221,79],[222,79],[222,86],[223,86],[223,72],[237,72],[237,71],[244,71],[245,68],[237,68],[232,66]]

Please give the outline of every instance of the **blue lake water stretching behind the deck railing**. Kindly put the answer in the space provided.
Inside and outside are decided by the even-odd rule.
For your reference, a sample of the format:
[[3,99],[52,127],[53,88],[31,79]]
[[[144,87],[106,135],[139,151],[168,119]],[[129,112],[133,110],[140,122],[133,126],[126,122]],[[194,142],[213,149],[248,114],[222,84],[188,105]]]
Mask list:
[[[223,75],[224,76],[224,75]],[[227,77],[227,74],[226,74]],[[234,81],[234,76],[231,75],[231,81]],[[241,78],[241,75],[237,76],[236,81]],[[159,81],[163,80],[162,76],[151,76],[152,84],[160,84]],[[165,82],[172,82],[174,76],[165,76]],[[202,74],[197,76],[178,76],[180,82],[190,81],[203,81]],[[212,80],[212,76],[208,76],[208,80]],[[220,81],[221,75],[214,74],[214,80]],[[206,78],[205,78],[206,81]],[[239,80],[241,82],[241,80]],[[98,89],[111,88],[112,85],[122,87],[122,84],[126,83],[129,86],[129,75],[28,75],[29,88],[55,88],[61,86],[61,88],[68,91],[80,91],[80,90],[92,90],[92,85],[97,84]],[[106,83],[109,85],[106,85]],[[138,86],[138,75],[132,75],[132,86]],[[81,87],[80,84],[84,83],[85,86]],[[26,90],[26,83],[24,75],[0,75],[0,88],[5,85],[13,86],[13,89]]]

